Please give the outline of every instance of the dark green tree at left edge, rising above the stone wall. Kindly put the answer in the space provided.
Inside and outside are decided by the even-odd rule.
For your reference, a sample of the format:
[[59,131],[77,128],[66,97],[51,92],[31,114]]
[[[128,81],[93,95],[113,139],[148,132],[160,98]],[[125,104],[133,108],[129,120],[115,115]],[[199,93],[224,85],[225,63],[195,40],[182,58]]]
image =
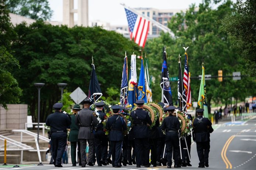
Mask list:
[[19,68],[19,62],[10,54],[11,40],[16,36],[4,1],[0,1],[0,106],[18,103],[21,89],[11,71]]

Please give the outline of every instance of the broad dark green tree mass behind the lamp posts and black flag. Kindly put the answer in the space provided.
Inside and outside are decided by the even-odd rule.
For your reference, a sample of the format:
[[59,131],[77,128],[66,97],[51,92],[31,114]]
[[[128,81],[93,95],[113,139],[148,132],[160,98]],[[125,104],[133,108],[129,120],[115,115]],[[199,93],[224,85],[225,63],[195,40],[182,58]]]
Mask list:
[[[120,93],[124,52],[131,54],[133,49],[139,49],[121,34],[101,27],[68,28],[37,21],[29,26],[26,23],[17,25],[15,32],[18,37],[13,40],[13,55],[19,60],[21,69],[14,70],[14,74],[24,92],[21,101],[29,104],[35,119],[37,90],[33,83],[45,83],[41,89],[42,121],[51,113],[52,105],[60,100],[57,83],[67,83],[68,92],[78,86],[88,92],[92,55],[103,96],[109,97],[111,90],[106,89],[111,87]],[[119,96],[110,95],[113,98],[109,100]]]

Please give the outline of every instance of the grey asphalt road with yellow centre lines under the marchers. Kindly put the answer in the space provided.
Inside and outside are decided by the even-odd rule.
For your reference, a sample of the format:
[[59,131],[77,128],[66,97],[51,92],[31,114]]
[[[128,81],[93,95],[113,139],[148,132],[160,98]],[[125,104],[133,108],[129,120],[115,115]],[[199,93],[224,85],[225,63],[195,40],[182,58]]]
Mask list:
[[[209,154],[209,170],[255,170],[256,169],[256,118],[249,121],[237,122],[235,124],[224,123],[215,126],[216,129],[210,137],[210,154]],[[181,167],[180,170],[196,170],[198,169],[198,155],[196,152],[196,143],[191,145],[191,164],[192,167]],[[173,168],[173,167],[172,167]],[[108,166],[81,166],[72,167],[72,165],[63,165],[62,168],[55,168],[53,165],[36,166],[36,165],[21,165],[18,168],[10,166],[0,166],[0,170],[109,170],[115,169],[111,165]],[[136,168],[135,165],[122,166],[119,170],[167,170],[166,166],[159,167],[141,167]]]

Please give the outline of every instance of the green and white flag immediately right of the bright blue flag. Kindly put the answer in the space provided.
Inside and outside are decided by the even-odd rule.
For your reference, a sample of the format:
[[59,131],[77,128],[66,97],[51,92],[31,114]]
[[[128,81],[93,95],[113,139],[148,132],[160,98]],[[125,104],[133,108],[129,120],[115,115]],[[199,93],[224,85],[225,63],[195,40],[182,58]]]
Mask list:
[[147,103],[152,102],[152,90],[151,90],[151,81],[149,77],[149,59],[145,56],[144,60],[145,66],[145,85],[146,85],[146,96],[147,96]]

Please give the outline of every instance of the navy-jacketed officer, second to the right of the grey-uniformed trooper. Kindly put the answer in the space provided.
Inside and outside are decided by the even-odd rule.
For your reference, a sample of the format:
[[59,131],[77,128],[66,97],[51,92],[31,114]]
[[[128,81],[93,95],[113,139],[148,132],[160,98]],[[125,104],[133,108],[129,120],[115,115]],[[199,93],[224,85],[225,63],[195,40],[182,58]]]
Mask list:
[[106,129],[109,130],[109,140],[112,153],[112,166],[120,166],[120,156],[122,149],[122,141],[124,140],[123,130],[126,130],[126,123],[124,119],[118,115],[120,106],[114,105],[111,107],[114,115],[107,119]]

